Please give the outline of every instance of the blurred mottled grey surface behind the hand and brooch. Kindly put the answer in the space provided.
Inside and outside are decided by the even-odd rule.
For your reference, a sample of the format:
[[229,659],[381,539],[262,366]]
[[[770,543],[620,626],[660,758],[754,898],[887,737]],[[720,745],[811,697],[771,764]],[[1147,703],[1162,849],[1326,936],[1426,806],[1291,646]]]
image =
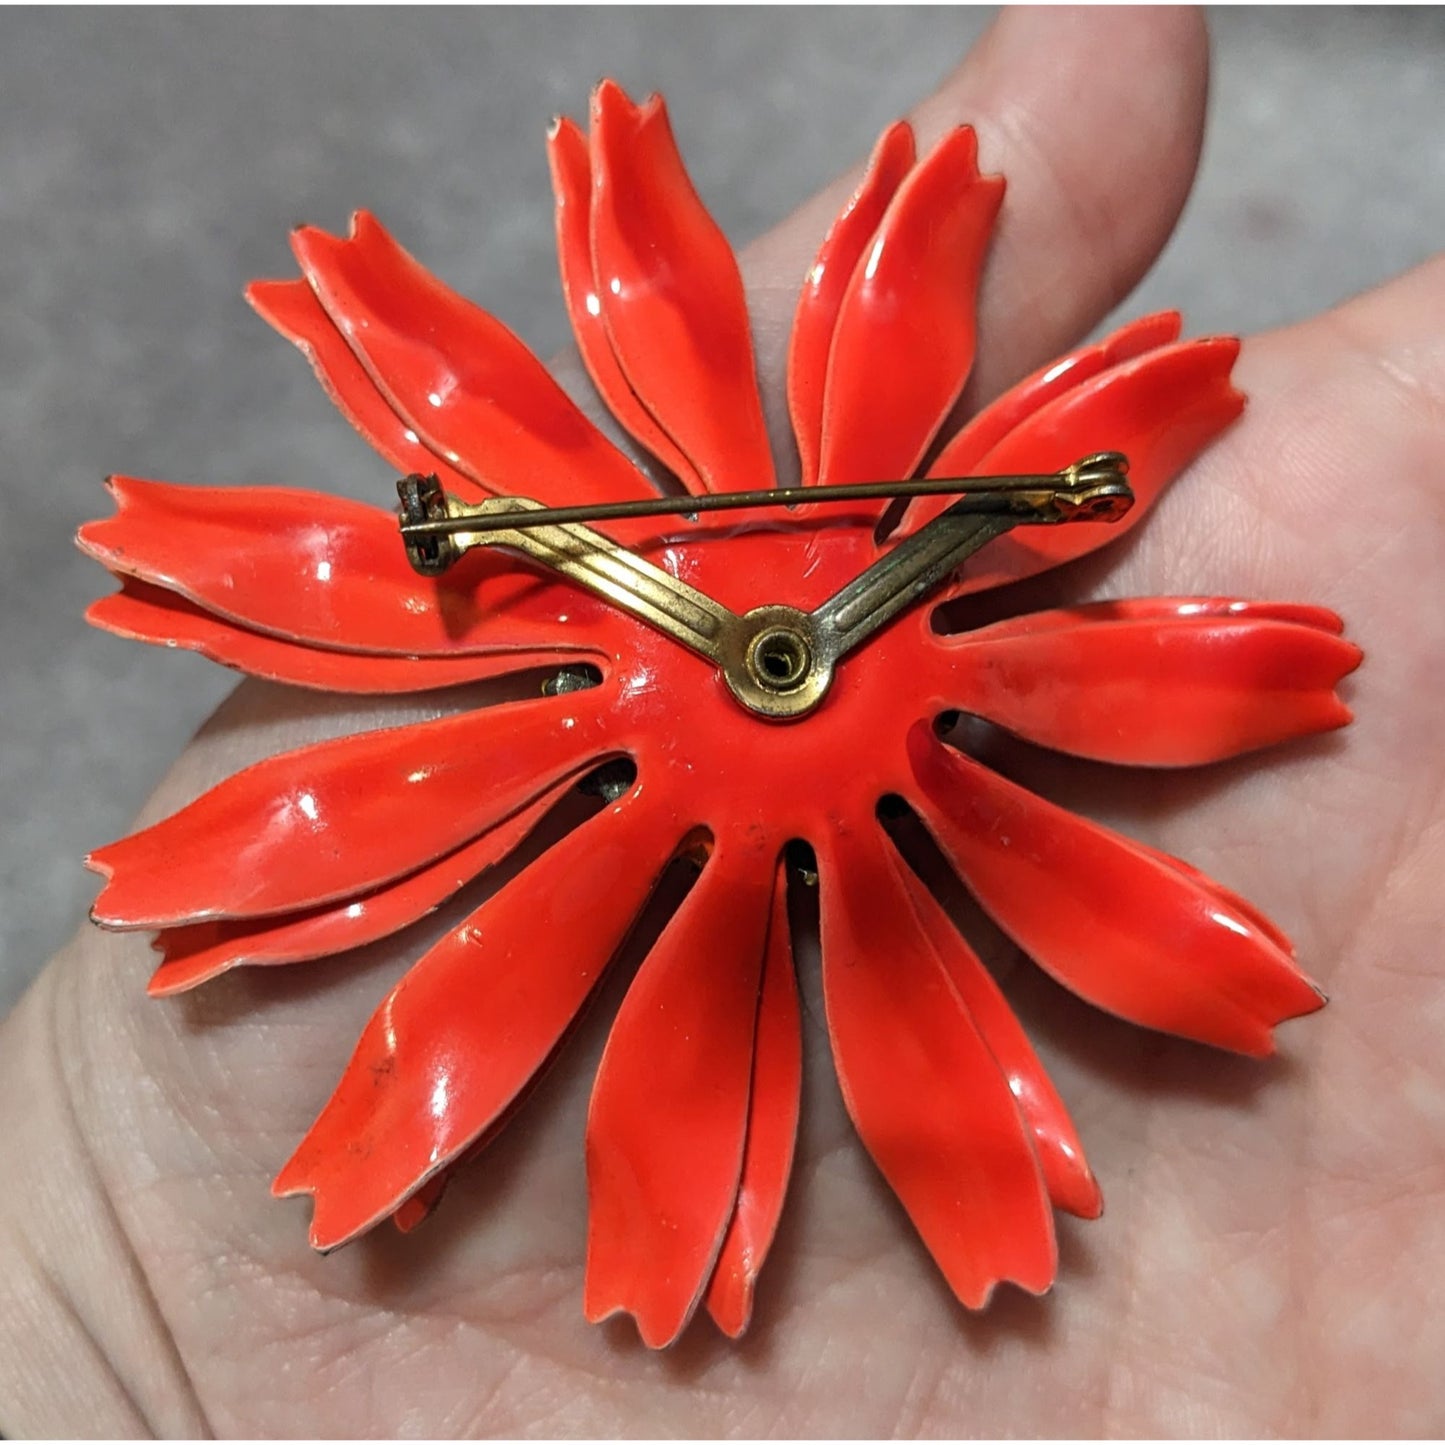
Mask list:
[[[233,686],[90,631],[107,471],[360,494],[377,462],[240,299],[298,220],[379,211],[540,354],[566,341],[542,136],[662,90],[737,244],[932,88],[987,10],[0,12],[0,1012],[88,847]],[[1199,185],[1126,311],[1289,321],[1445,244],[1445,12],[1217,10]]]

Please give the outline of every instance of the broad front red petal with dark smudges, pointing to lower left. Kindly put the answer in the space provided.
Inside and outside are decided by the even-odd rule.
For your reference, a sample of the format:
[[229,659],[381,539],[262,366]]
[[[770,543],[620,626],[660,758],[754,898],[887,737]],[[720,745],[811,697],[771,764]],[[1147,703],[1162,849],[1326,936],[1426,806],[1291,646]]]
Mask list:
[[506,1117],[591,997],[676,841],[666,809],[623,799],[416,962],[272,1186],[315,1196],[312,1246],[361,1234]]

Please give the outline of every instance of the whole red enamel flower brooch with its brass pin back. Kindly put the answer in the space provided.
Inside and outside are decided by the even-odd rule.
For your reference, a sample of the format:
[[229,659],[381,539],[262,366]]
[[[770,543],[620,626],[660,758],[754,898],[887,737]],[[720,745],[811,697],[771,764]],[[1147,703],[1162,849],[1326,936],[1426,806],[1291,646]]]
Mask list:
[[276,1178],[314,1198],[311,1240],[331,1248],[425,1217],[565,1043],[662,873],[695,860],[587,1121],[587,1315],[627,1311],[662,1345],[699,1303],[744,1329],[777,1222],[802,1049],[785,850],[806,844],[828,1036],[864,1146],[964,1303],[1001,1280],[1045,1290],[1052,1211],[1097,1215],[1098,1186],[880,805],[902,799],[1019,948],[1101,1009],[1263,1055],[1276,1023],[1321,1006],[1243,899],[938,727],[965,712],[1062,753],[1182,767],[1348,721],[1334,688],[1360,653],[1318,607],[1169,597],[939,621],[941,603],[1137,525],[1238,415],[1237,342],[1147,316],[939,438],[1004,188],[970,129],[916,159],[897,124],[806,275],[788,403],[809,490],[770,493],[743,283],[660,98],[601,85],[591,133],[558,123],[551,162],[577,344],[660,467],[640,470],[361,214],[344,240],[299,230],[302,276],[250,301],[406,474],[400,520],[117,477],[116,514],[81,530],[121,582],[90,618],[126,637],[338,692],[546,683],[247,767],[92,854],[94,918],[156,931],[155,994],[338,954],[435,909],[590,790],[584,821],[381,1001]]

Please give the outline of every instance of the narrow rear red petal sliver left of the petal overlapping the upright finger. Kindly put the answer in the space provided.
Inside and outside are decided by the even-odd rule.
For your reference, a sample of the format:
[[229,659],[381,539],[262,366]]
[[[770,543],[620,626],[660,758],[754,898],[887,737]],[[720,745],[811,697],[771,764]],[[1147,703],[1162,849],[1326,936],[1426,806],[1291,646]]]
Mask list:
[[798,298],[788,345],[788,410],[802,460],[803,486],[818,481],[824,389],[838,308],[864,249],[913,160],[913,127],[905,120],[896,121],[883,131],[858,189],[828,228]]

